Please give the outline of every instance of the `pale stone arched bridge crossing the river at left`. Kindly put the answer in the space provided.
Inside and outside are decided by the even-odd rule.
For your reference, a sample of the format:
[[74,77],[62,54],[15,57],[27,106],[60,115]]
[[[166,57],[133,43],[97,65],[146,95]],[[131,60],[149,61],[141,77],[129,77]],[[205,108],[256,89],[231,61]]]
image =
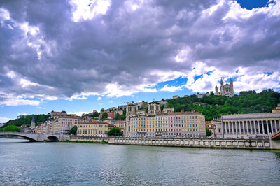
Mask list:
[[68,135],[62,134],[37,134],[37,133],[22,133],[22,132],[0,132],[2,138],[22,137],[31,142],[34,141],[65,141],[69,139]]

